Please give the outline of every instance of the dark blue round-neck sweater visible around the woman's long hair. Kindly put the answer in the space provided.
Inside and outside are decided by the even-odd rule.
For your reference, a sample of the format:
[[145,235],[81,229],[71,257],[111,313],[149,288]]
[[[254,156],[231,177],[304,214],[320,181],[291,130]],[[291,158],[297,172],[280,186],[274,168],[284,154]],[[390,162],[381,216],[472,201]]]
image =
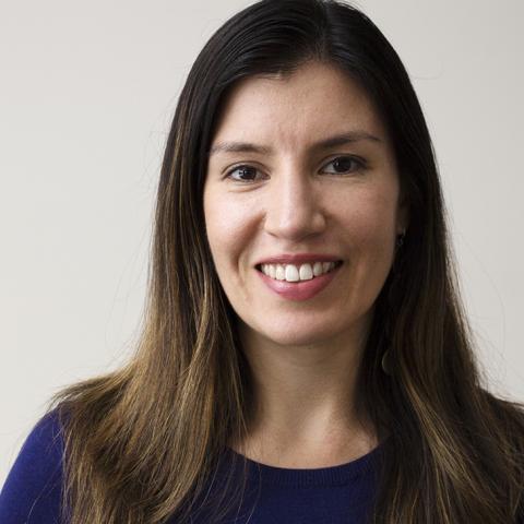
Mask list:
[[[373,473],[383,445],[347,464],[315,469],[281,468],[248,460],[248,485],[241,509],[235,507],[221,522],[364,524],[372,503]],[[51,413],[29,433],[5,480],[0,493],[2,524],[59,522],[62,455],[58,418]],[[231,461],[241,455],[228,448],[222,458],[219,475],[225,471],[222,465],[231,466]],[[235,474],[240,472],[240,460],[233,462]],[[205,512],[196,512],[192,522],[209,521]],[[169,521],[176,523],[176,517]]]

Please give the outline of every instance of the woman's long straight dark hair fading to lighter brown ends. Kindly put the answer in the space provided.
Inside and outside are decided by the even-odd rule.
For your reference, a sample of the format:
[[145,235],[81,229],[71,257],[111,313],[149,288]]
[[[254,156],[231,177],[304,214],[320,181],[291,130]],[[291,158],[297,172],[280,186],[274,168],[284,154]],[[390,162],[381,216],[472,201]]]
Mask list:
[[[483,386],[431,140],[400,58],[348,4],[263,0],[212,36],[179,98],[133,358],[68,386],[49,406],[63,427],[72,524],[156,524],[175,514],[186,522],[227,443],[246,437],[252,381],[205,236],[207,152],[236,82],[290,74],[312,59],[345,71],[374,102],[409,203],[358,377],[360,409],[379,438],[391,436],[371,522],[509,524],[522,514],[524,406]],[[231,500],[214,501],[217,519]]]

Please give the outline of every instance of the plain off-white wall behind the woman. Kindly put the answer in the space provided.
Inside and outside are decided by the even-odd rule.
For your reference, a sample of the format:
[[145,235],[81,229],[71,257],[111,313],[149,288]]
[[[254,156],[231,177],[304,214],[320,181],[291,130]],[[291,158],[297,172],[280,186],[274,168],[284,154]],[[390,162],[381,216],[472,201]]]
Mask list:
[[[0,0],[0,484],[60,386],[129,355],[167,132],[241,0]],[[488,386],[524,400],[524,2],[360,0],[433,139]]]

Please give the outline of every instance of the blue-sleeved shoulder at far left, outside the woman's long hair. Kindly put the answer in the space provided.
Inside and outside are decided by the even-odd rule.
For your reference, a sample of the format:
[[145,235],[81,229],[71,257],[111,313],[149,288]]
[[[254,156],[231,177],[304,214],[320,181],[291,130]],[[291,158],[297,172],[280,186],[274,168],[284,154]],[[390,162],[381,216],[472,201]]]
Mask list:
[[63,440],[57,410],[29,432],[0,492],[2,524],[59,522]]

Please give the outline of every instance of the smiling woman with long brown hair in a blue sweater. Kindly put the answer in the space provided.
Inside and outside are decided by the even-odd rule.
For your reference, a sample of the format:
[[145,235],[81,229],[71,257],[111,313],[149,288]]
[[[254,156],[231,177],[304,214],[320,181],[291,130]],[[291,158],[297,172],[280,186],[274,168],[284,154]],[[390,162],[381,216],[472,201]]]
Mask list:
[[152,257],[134,358],[53,398],[2,522],[524,522],[523,406],[480,385],[428,130],[361,12],[216,32]]

